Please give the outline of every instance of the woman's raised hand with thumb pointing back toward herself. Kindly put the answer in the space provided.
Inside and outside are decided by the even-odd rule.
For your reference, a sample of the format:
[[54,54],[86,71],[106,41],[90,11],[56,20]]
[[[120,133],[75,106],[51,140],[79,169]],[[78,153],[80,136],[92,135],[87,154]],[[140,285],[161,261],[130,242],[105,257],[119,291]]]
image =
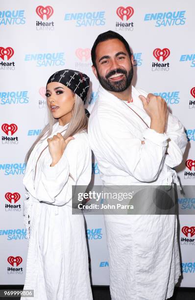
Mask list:
[[57,133],[57,135],[54,135],[52,138],[47,139],[49,145],[49,153],[52,158],[52,163],[50,165],[51,167],[55,166],[55,164],[57,164],[57,162],[60,160],[64,150],[71,140],[74,140],[73,136],[70,136],[66,140],[64,140],[61,133]]

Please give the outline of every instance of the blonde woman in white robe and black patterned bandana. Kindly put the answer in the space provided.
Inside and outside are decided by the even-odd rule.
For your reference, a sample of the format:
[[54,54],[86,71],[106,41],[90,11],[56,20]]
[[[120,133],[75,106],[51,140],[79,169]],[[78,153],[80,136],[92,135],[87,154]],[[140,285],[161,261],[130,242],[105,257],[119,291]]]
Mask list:
[[36,300],[92,300],[84,218],[72,215],[72,185],[91,180],[84,108],[89,80],[73,70],[50,76],[50,121],[26,155],[24,290],[34,290]]

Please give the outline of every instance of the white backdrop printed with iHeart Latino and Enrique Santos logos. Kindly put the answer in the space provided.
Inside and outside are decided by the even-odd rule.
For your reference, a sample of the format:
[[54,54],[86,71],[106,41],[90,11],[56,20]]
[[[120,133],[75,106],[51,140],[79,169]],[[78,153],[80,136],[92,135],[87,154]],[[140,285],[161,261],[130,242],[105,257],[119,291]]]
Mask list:
[[[47,124],[46,82],[62,69],[91,78],[89,111],[98,82],[91,48],[114,30],[134,54],[134,85],[166,99],[185,126],[189,145],[177,168],[190,193],[179,196],[180,285],[195,287],[195,3],[190,0],[2,0],[0,3],[0,284],[24,284],[24,157]],[[96,160],[92,180],[101,184]],[[85,216],[94,285],[109,284],[102,216]],[[33,270],[32,270],[33,273]]]

